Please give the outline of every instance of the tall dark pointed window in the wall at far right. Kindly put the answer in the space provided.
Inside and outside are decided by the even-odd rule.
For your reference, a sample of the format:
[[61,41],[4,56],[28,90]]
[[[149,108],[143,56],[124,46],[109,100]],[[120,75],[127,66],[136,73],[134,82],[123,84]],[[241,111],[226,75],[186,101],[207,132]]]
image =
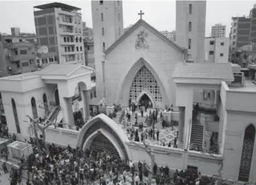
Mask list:
[[248,182],[251,171],[251,160],[254,152],[255,127],[250,124],[244,131],[244,144],[238,180]]

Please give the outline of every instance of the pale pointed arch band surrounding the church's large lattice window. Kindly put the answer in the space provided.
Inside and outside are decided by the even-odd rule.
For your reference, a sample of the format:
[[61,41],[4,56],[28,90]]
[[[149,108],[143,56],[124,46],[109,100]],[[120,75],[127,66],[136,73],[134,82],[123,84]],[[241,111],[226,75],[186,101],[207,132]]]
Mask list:
[[115,99],[115,102],[118,104],[122,104],[123,106],[128,106],[128,99],[129,99],[129,93],[131,90],[131,84],[132,81],[134,81],[136,74],[138,74],[138,71],[145,66],[145,68],[148,69],[148,71],[151,72],[151,74],[154,76],[155,81],[157,81],[157,84],[160,89],[161,97],[162,97],[162,104],[160,104],[161,107],[164,107],[165,104],[170,104],[170,100],[166,94],[165,87],[163,83],[161,82],[157,71],[149,64],[148,61],[146,61],[144,58],[139,58],[138,61],[133,64],[133,66],[130,68],[128,73],[125,75],[125,78],[122,79],[120,82],[120,87],[118,88],[118,93]]

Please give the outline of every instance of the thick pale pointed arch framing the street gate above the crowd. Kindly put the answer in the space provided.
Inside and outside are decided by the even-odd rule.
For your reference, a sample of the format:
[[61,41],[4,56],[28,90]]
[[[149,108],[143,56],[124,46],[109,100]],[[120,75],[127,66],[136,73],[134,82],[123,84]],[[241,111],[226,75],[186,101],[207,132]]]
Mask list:
[[131,159],[128,146],[125,144],[129,141],[127,135],[115,121],[105,114],[98,114],[81,128],[78,134],[77,147],[83,150],[90,147],[91,141],[97,136],[98,132],[111,141],[111,144],[118,150],[120,157]]

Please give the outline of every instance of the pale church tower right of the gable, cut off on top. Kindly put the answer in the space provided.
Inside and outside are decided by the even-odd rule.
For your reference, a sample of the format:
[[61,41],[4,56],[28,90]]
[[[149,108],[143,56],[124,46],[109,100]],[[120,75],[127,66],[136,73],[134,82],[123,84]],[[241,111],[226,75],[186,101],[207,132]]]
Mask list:
[[176,1],[176,43],[190,61],[204,61],[205,17],[206,1]]

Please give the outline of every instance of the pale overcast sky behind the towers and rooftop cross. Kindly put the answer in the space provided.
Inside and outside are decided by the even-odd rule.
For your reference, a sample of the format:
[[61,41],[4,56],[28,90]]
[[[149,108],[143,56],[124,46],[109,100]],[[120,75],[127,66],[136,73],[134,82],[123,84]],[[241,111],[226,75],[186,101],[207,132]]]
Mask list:
[[[56,0],[57,1],[57,0]],[[11,33],[11,27],[21,28],[21,32],[35,33],[34,6],[42,5],[52,1],[1,1],[0,0],[0,32]],[[91,20],[91,1],[62,1],[81,8],[82,21],[86,22],[88,27],[92,27]],[[205,36],[210,36],[211,26],[221,23],[227,25],[226,36],[230,32],[231,17],[248,16],[254,1],[207,1]],[[175,30],[175,0],[123,0],[124,28],[135,24],[139,19],[138,12],[145,12],[143,19],[147,21],[158,31]]]

